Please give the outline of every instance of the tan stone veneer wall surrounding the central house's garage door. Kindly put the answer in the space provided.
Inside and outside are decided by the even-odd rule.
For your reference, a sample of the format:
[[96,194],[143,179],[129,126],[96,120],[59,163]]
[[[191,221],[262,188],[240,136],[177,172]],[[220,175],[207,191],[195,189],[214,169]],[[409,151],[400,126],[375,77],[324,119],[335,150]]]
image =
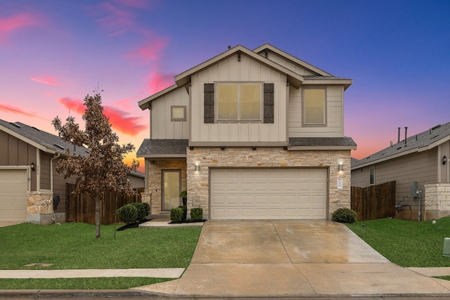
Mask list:
[[[283,148],[194,148],[187,150],[188,209],[202,207],[209,215],[210,167],[321,167],[329,168],[328,214],[340,207],[350,208],[350,151],[287,151]],[[338,171],[342,163],[344,171]],[[200,171],[195,172],[195,164]],[[196,174],[198,173],[198,174]],[[338,178],[344,186],[338,190]]]

